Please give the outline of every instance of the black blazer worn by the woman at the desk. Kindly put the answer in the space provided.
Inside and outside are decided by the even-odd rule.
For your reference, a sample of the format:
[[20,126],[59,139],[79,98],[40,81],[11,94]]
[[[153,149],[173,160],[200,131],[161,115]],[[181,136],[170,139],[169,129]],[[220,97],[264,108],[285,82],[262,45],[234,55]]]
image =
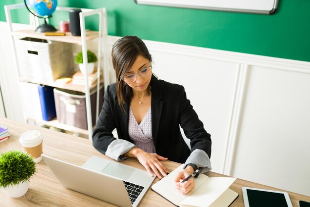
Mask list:
[[[152,137],[156,153],[169,160],[184,163],[196,149],[203,150],[210,157],[211,138],[204,129],[197,113],[186,98],[184,87],[151,79],[152,86]],[[107,87],[103,108],[93,131],[93,146],[105,154],[108,145],[115,140],[112,131],[116,128],[118,138],[133,142],[128,135],[129,102],[124,104],[126,113],[118,105],[116,85]],[[180,127],[188,139],[191,150],[186,145]]]

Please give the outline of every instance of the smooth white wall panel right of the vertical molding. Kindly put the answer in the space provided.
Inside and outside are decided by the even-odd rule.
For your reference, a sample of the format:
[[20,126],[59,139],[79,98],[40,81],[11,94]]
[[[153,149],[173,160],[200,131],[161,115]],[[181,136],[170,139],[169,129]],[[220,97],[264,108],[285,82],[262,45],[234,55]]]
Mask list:
[[252,66],[232,175],[310,195],[310,73]]

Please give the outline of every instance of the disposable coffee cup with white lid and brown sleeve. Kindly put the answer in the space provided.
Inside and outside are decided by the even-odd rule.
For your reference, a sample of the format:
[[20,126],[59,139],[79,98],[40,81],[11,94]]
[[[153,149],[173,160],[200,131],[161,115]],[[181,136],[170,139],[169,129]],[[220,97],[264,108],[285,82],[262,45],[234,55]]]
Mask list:
[[23,146],[24,151],[34,157],[36,163],[42,160],[43,153],[42,135],[38,130],[24,132],[19,137],[19,142]]

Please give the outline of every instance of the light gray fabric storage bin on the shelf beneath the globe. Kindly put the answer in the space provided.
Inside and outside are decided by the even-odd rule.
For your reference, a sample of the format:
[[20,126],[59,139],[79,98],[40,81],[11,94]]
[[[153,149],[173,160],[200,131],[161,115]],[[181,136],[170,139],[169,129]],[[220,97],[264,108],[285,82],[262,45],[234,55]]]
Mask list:
[[25,37],[16,44],[19,75],[33,81],[54,81],[74,73],[72,44]]

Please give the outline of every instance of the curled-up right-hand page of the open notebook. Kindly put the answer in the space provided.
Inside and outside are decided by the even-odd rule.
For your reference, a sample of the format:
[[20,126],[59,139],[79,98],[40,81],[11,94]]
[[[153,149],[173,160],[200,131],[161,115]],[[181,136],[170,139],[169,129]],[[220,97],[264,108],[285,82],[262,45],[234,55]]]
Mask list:
[[179,206],[209,207],[235,180],[236,178],[229,177],[210,177],[190,196],[185,198]]

